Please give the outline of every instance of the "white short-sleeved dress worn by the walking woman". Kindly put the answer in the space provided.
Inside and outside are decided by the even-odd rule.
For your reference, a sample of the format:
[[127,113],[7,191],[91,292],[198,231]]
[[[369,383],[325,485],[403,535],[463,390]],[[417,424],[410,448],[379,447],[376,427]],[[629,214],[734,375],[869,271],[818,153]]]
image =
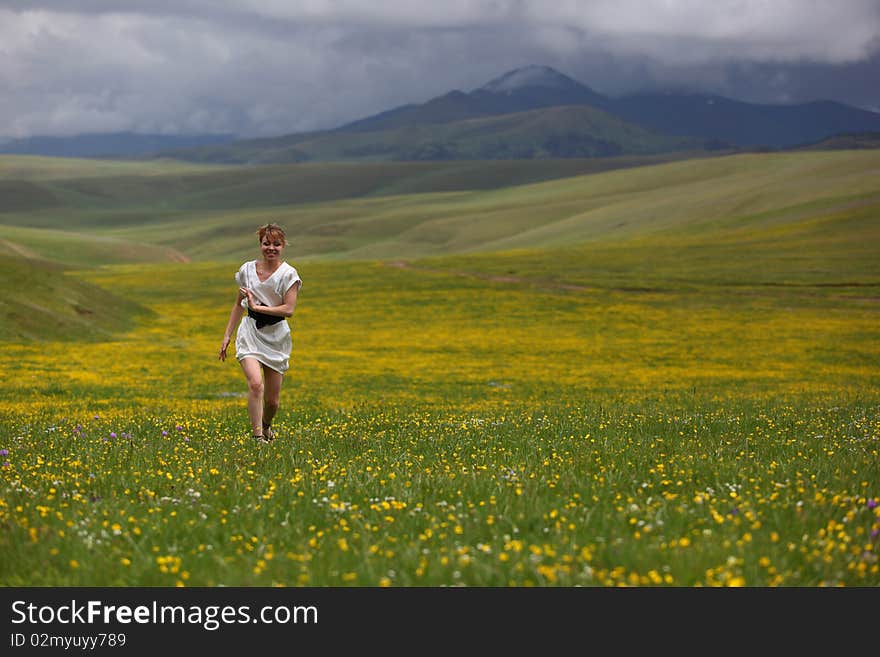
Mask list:
[[[261,281],[257,276],[257,261],[250,260],[235,272],[235,282],[239,287],[249,288],[267,306],[280,306],[291,287],[302,287],[302,279],[296,269],[286,262],[282,262],[269,278]],[[247,309],[247,298],[242,299],[241,306]],[[242,317],[235,337],[235,357],[239,361],[242,358],[256,358],[263,365],[284,374],[290,366],[288,359],[292,347],[290,326],[286,319],[258,329],[253,318],[248,315]]]

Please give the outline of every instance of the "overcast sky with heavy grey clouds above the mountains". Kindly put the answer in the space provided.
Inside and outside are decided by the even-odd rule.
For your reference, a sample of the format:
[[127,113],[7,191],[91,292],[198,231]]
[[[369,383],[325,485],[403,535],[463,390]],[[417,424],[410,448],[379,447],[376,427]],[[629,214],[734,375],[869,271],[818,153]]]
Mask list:
[[0,136],[288,134],[529,64],[880,111],[880,0],[0,0]]

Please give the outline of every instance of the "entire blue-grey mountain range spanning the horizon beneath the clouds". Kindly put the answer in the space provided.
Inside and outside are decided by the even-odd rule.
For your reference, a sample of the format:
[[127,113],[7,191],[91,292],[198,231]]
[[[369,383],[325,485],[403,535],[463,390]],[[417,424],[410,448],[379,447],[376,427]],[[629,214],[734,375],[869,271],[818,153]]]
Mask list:
[[880,113],[831,101],[762,105],[678,92],[611,98],[549,66],[531,65],[470,92],[452,90],[332,130],[241,140],[35,137],[0,145],[0,153],[217,164],[532,159],[781,150],[874,132]]

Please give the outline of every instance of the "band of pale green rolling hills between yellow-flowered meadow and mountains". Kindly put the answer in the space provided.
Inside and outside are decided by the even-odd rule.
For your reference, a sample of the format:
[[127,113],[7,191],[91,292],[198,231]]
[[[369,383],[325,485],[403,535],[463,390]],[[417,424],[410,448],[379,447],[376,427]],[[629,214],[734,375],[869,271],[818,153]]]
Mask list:
[[[66,205],[46,207],[34,194],[33,205],[0,212],[0,239],[7,252],[77,266],[238,259],[253,255],[252,232],[269,220],[288,228],[297,259],[418,258],[818,230],[843,226],[827,223],[837,215],[847,221],[858,215],[864,224],[852,235],[848,228],[832,233],[837,242],[864,249],[873,239],[880,151],[740,154],[606,171],[589,168],[601,160],[584,160],[577,171],[579,162],[546,162],[543,175],[552,163],[558,177],[531,180],[540,162],[506,163],[506,173],[493,162],[189,172],[170,165],[167,176],[153,164],[145,169],[149,175],[132,170],[122,178],[52,174],[45,180],[32,173],[26,182],[53,190]],[[521,184],[509,184],[517,177]]]

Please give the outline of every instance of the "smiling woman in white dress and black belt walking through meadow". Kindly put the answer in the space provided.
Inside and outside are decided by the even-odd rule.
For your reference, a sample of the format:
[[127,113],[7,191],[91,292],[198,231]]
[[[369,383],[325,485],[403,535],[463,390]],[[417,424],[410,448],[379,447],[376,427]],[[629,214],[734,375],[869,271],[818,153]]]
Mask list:
[[302,280],[282,259],[287,239],[281,226],[266,224],[257,236],[262,258],[245,262],[235,274],[238,293],[220,346],[220,360],[226,360],[237,325],[235,357],[247,379],[251,429],[255,439],[269,442],[275,438],[272,419],[278,411],[281,380],[293,346],[285,318],[293,315]]

